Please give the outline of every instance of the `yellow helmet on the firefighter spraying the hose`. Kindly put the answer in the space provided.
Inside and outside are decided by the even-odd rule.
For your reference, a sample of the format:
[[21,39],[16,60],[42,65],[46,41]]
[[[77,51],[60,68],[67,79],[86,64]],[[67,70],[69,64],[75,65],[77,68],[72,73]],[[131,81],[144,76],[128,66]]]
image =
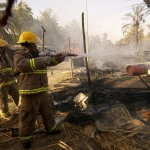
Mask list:
[[21,44],[21,43],[37,44],[38,42],[39,42],[38,37],[33,32],[25,31],[20,35],[17,43],[18,44]]

